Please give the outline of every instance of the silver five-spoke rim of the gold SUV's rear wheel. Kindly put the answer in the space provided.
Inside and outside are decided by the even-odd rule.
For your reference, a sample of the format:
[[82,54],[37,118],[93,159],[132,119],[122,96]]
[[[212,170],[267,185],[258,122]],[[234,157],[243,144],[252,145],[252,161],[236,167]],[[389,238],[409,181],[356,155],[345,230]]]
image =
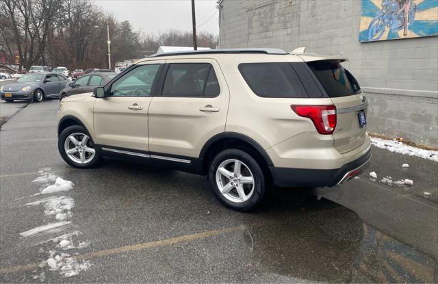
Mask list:
[[253,172],[238,159],[227,159],[218,166],[216,184],[222,196],[234,203],[244,203],[254,194]]

